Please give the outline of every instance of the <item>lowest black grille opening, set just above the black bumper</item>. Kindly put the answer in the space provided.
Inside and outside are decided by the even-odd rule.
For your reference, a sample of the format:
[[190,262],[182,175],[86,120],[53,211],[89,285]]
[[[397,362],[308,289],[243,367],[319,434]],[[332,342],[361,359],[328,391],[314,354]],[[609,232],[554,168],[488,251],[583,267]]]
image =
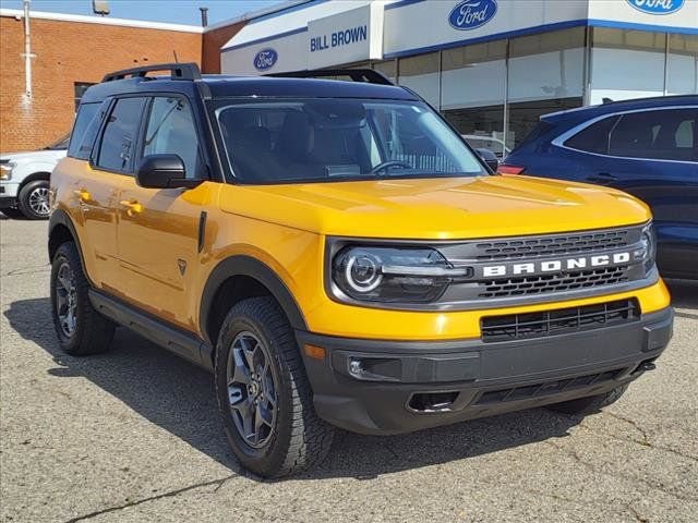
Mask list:
[[482,341],[510,341],[592,330],[640,318],[637,300],[482,318]]

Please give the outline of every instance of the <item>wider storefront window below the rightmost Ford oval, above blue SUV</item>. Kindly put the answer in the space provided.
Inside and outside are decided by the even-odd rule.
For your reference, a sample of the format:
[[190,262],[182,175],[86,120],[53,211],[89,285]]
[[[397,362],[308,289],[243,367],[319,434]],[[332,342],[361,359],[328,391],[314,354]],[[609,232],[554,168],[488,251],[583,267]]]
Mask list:
[[591,105],[664,94],[666,35],[594,27]]

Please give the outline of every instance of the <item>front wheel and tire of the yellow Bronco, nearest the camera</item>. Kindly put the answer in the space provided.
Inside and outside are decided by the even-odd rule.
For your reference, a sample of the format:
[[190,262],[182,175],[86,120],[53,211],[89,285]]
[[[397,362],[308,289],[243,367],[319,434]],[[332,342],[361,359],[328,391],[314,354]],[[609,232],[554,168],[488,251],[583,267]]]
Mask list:
[[[244,368],[253,370],[237,372]],[[253,297],[230,309],[218,336],[215,380],[226,437],[246,469],[260,476],[280,477],[325,459],[334,428],[315,414],[293,331],[274,299]],[[244,405],[250,405],[246,412],[254,411],[254,421],[270,422],[258,428],[250,422],[257,437],[244,430]]]

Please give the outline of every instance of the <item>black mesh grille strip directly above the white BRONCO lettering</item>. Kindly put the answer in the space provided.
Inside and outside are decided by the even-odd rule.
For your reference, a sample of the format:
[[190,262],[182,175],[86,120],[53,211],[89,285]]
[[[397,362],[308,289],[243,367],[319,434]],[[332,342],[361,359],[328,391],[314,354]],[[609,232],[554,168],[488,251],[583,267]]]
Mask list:
[[540,258],[577,253],[591,253],[628,245],[630,230],[580,232],[481,242],[476,245],[478,262]]

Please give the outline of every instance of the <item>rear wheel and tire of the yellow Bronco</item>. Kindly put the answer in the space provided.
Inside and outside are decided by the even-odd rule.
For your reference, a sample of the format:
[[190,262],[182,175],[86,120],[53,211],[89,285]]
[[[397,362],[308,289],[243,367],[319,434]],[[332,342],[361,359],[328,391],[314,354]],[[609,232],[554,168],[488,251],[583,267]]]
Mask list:
[[93,307],[88,290],[75,244],[63,243],[51,262],[51,309],[60,346],[73,356],[106,352],[113,338],[115,324]]

